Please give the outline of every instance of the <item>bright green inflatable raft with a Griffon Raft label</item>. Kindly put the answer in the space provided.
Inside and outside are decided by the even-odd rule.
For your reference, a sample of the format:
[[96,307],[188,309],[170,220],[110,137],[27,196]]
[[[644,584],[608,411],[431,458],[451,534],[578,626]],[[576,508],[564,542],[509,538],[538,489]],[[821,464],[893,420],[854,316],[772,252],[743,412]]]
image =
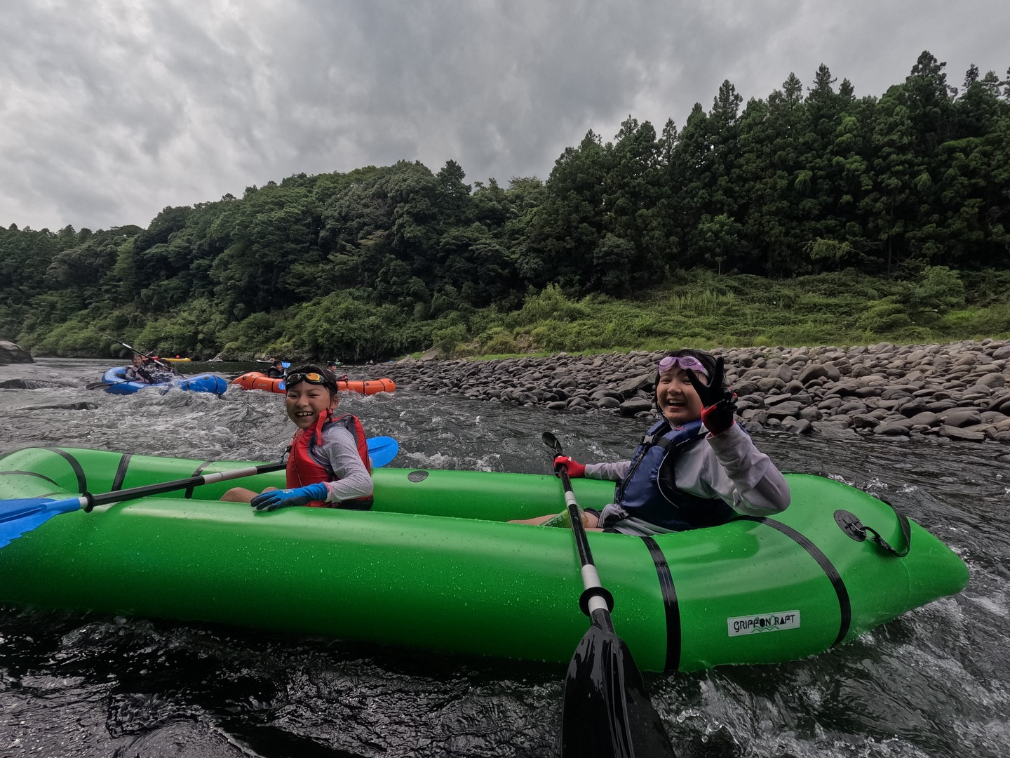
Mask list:
[[[65,497],[244,467],[28,448],[0,458],[0,497]],[[213,622],[463,654],[567,662],[587,628],[566,529],[506,524],[561,510],[553,476],[381,468],[372,511],[258,512],[235,482],[56,515],[0,549],[0,603]],[[899,558],[852,536],[905,538],[886,503],[787,475],[774,518],[637,538],[591,533],[613,621],[639,667],[691,670],[820,653],[960,591],[962,560],[914,523]],[[244,485],[281,485],[283,472]],[[574,482],[600,507],[612,483]],[[283,486],[283,485],[282,485]],[[518,623],[517,623],[518,622]]]

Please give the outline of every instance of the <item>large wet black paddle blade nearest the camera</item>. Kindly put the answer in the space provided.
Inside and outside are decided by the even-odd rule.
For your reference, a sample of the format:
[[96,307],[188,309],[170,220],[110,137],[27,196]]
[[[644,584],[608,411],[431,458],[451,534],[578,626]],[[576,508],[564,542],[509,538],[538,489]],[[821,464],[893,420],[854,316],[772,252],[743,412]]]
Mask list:
[[569,664],[562,708],[563,758],[673,758],[663,720],[645,693],[631,652],[606,611]]

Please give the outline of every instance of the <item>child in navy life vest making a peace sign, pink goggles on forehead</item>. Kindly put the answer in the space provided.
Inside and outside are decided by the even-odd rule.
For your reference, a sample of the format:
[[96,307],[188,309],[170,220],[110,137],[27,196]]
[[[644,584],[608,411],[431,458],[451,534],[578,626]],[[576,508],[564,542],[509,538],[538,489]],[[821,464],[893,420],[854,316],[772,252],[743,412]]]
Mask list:
[[[733,419],[735,395],[723,384],[723,361],[679,350],[656,367],[662,418],[630,461],[583,465],[554,459],[570,477],[617,482],[614,501],[587,508],[587,529],[648,536],[715,527],[739,513],[771,515],[789,506],[789,485]],[[553,515],[516,524],[543,524]]]

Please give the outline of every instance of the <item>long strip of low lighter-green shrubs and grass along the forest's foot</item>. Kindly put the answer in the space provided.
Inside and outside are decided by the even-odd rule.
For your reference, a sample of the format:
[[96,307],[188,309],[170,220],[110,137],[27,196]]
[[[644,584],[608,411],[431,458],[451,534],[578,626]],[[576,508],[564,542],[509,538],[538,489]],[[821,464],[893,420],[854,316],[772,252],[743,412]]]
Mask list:
[[[106,331],[150,353],[209,358],[223,351],[230,358],[351,363],[431,347],[442,357],[463,358],[1010,337],[1007,288],[985,286],[989,280],[978,275],[966,279],[942,267],[907,281],[853,271],[787,280],[681,272],[671,284],[634,299],[573,298],[551,285],[527,295],[512,312],[461,308],[433,318],[418,317],[414,306],[376,305],[371,293],[357,290],[237,321],[209,299],[198,299],[157,317],[128,307],[60,312],[65,320],[54,322],[52,313],[35,312],[17,342],[35,355],[125,355],[98,334]],[[1010,279],[1004,272],[991,277],[997,284],[1004,279]]]

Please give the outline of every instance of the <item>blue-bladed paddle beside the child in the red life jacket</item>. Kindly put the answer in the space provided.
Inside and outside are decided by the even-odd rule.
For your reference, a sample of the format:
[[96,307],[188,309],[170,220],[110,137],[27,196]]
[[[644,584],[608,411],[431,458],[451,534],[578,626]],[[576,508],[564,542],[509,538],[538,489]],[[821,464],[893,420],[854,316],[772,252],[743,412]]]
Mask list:
[[[373,437],[368,441],[369,457],[373,468],[382,468],[392,461],[400,450],[400,445],[392,437]],[[261,466],[247,466],[230,471],[219,471],[203,476],[191,476],[187,479],[176,479],[160,484],[145,484],[142,487],[130,487],[115,492],[102,492],[97,495],[86,493],[78,497],[66,497],[54,500],[47,497],[22,497],[12,500],[0,500],[0,548],[8,545],[21,535],[44,524],[59,513],[70,513],[85,508],[90,510],[95,505],[104,505],[120,500],[132,500],[136,497],[157,495],[172,492],[177,489],[189,489],[203,484],[240,479],[244,476],[266,474],[270,471],[280,471],[284,463],[267,463]]]

